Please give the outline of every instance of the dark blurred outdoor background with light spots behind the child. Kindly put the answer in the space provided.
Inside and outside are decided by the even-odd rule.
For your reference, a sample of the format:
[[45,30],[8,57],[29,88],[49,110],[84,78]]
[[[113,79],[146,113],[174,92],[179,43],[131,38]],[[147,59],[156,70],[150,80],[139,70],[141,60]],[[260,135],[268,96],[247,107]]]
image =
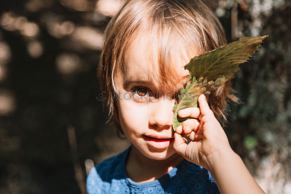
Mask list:
[[[230,145],[266,193],[291,192],[291,2],[206,0],[228,42],[269,35],[233,79]],[[129,146],[96,97],[102,34],[120,0],[1,0],[0,193],[86,193]]]

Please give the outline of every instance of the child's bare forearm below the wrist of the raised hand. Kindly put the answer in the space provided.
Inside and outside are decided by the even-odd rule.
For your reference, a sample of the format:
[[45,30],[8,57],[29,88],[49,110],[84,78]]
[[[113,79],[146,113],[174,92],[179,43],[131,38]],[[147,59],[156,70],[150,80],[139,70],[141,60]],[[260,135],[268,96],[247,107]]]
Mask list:
[[220,193],[264,193],[242,159],[233,150],[211,156],[209,172]]

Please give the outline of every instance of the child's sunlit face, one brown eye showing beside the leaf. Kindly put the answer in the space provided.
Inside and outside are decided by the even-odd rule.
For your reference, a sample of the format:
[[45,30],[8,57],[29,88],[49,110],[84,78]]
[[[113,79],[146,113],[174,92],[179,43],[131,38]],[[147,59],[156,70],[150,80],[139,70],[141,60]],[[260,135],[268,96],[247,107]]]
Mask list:
[[[149,79],[150,64],[146,38],[135,40],[125,54],[126,73],[118,73],[119,90],[117,106],[120,125],[134,147],[144,156],[164,160],[175,154],[173,149],[173,107],[179,89],[186,83],[189,71],[180,60],[181,81],[176,86],[155,87]],[[169,76],[170,79],[170,76]]]

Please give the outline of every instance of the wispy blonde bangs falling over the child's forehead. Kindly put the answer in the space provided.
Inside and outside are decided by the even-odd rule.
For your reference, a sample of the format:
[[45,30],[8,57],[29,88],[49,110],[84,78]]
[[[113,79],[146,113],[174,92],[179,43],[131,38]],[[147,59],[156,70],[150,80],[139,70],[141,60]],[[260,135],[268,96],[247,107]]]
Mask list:
[[[145,49],[146,73],[148,79],[152,80],[157,88],[176,86],[177,83],[180,83],[185,78],[184,65],[198,55],[196,41],[193,38],[196,36],[190,34],[186,29],[177,29],[171,21],[171,18],[175,20],[173,16],[167,17],[170,18],[169,21],[157,19],[163,18],[162,16],[144,18],[143,20],[147,20],[147,22],[143,20],[140,22],[147,25],[138,25],[126,46],[126,50],[130,49],[134,44],[139,44],[141,37],[146,37],[146,48],[148,48]],[[183,31],[185,33],[182,33]],[[125,68],[123,68],[123,73],[127,74]]]

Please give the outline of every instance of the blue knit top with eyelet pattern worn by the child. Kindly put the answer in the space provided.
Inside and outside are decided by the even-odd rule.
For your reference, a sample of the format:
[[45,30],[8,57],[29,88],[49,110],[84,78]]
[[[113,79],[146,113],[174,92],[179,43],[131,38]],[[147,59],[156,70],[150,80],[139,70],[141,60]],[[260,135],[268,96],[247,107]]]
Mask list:
[[219,193],[210,172],[184,159],[161,178],[137,183],[127,177],[125,160],[131,146],[92,168],[87,191],[93,193]]

